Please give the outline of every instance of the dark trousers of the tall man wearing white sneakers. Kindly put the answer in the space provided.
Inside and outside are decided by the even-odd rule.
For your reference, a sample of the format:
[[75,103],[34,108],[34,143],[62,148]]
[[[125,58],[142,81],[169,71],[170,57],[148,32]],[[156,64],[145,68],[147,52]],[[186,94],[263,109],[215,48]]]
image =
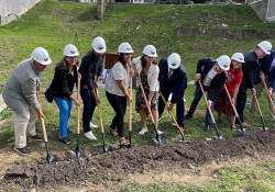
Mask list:
[[97,106],[94,97],[91,95],[90,90],[87,88],[80,88],[80,95],[84,102],[84,111],[82,111],[82,127],[84,133],[90,131],[90,121],[92,118],[92,114]]

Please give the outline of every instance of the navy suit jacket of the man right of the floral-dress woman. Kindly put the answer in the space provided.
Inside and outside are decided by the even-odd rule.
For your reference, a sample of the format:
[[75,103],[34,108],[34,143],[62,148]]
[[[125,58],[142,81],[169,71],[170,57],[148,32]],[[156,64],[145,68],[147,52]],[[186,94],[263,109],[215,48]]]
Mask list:
[[172,92],[173,97],[170,102],[176,103],[179,98],[183,99],[185,89],[187,88],[187,72],[183,64],[174,70],[168,79],[168,63],[167,57],[163,57],[160,63],[158,81],[163,92]]

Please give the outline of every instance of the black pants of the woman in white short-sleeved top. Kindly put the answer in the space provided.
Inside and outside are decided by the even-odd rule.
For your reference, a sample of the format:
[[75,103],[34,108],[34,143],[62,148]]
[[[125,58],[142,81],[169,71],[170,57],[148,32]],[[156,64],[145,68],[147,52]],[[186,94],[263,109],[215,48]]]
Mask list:
[[127,111],[127,97],[120,97],[117,94],[111,94],[106,91],[106,97],[111,104],[116,116],[112,118],[111,128],[118,128],[119,137],[123,137],[123,124],[124,124],[124,114]]

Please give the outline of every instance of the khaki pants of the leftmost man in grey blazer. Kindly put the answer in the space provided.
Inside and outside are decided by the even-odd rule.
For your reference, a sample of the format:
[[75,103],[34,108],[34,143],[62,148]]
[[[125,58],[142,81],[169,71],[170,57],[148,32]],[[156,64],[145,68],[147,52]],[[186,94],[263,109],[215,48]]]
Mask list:
[[25,147],[26,136],[36,135],[36,111],[32,106],[30,106],[29,112],[30,113],[26,116],[22,116],[13,112],[15,148]]

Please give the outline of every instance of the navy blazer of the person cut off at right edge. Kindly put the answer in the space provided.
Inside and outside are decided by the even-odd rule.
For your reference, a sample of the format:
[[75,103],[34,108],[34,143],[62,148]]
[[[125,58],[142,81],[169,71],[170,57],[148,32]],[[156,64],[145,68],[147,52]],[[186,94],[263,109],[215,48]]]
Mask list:
[[262,66],[265,65],[266,67],[270,66],[267,78],[270,80],[270,88],[272,88],[273,90],[275,90],[275,66],[272,66],[272,61],[274,58],[275,58],[275,50],[272,50],[271,55],[266,55],[262,61]]

